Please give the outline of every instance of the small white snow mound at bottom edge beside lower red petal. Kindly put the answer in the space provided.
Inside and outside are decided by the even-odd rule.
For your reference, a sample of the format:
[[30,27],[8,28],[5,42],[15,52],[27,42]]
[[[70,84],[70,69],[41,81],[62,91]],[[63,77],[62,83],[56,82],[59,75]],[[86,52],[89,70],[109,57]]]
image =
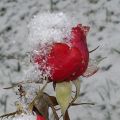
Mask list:
[[36,116],[31,115],[31,114],[30,115],[22,114],[22,115],[14,117],[13,120],[36,120]]

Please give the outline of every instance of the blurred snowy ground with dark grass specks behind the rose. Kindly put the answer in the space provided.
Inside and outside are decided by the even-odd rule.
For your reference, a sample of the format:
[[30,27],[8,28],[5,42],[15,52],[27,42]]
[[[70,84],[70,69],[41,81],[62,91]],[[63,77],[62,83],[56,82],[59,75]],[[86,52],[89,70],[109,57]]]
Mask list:
[[120,120],[120,0],[0,0],[0,115],[15,110],[14,90],[3,90],[23,79],[29,68],[27,24],[38,12],[62,11],[90,26],[91,58],[107,57],[99,71],[82,78],[79,102],[70,109],[71,120]]

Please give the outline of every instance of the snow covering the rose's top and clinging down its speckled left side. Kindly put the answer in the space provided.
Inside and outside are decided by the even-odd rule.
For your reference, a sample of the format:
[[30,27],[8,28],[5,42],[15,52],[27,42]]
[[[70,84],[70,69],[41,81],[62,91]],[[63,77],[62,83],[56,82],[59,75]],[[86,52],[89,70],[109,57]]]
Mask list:
[[[28,40],[30,45],[31,62],[35,59],[42,59],[41,64],[30,70],[27,79],[33,78],[39,82],[50,76],[51,68],[46,66],[47,58],[54,43],[68,43],[71,36],[72,19],[62,12],[59,13],[39,13],[33,17],[28,24]],[[43,70],[44,69],[44,70]],[[35,77],[36,75],[36,77]],[[40,77],[42,76],[42,78]]]

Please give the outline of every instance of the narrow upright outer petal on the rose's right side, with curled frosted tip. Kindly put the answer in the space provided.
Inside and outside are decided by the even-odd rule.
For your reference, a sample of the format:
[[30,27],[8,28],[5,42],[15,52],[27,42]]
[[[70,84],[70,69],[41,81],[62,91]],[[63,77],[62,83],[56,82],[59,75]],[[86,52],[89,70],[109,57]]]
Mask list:
[[71,43],[72,46],[77,47],[81,52],[81,61],[80,61],[80,68],[78,72],[73,76],[73,79],[76,79],[77,76],[83,74],[88,66],[89,61],[89,51],[86,43],[86,34],[85,31],[88,31],[88,27],[83,27],[82,25],[78,25],[72,29],[72,39]]

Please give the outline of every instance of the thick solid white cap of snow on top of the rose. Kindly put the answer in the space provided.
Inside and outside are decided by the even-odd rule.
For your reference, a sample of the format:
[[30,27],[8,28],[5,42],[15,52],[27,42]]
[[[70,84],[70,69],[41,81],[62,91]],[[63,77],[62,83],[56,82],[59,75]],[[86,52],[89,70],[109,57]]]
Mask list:
[[70,37],[72,24],[63,13],[42,13],[34,16],[28,25],[30,45],[64,42]]

